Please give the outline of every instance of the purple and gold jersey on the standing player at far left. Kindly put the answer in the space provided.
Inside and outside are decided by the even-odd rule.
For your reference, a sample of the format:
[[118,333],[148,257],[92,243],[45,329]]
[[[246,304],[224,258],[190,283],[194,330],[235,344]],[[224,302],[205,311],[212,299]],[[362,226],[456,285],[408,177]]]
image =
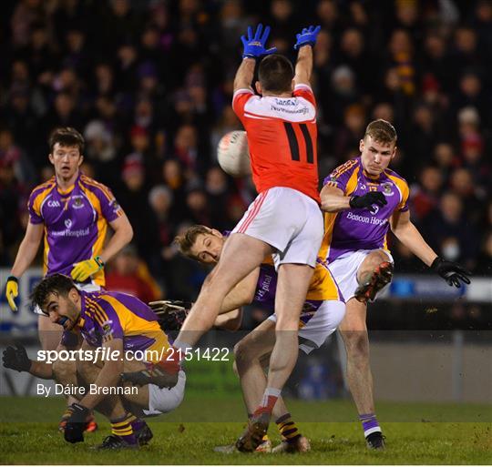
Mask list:
[[[55,177],[37,186],[28,209],[31,224],[45,224],[45,275],[70,275],[75,263],[99,255],[108,222],[123,214],[107,187],[82,174],[65,192],[57,188]],[[86,282],[91,281],[104,286],[103,269]]]

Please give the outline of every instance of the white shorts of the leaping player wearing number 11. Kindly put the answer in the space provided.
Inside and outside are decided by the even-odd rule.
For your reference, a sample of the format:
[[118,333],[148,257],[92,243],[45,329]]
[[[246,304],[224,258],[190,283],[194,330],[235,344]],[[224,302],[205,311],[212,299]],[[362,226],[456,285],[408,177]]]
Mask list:
[[243,233],[276,249],[280,264],[314,267],[323,239],[323,214],[314,199],[286,187],[263,191],[251,203],[232,233]]

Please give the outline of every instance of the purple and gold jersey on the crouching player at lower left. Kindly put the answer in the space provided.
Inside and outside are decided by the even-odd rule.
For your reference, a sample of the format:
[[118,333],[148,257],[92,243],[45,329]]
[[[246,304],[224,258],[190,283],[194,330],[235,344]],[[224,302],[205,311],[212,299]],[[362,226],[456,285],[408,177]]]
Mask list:
[[124,350],[149,351],[149,361],[157,363],[169,341],[160,329],[156,314],[143,301],[122,292],[80,291],[82,310],[78,327],[93,347],[113,339],[123,340]]

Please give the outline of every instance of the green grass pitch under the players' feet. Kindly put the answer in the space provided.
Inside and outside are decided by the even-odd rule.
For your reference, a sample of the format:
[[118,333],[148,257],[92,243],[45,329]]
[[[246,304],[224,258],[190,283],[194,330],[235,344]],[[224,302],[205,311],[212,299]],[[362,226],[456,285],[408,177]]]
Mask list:
[[[241,400],[190,396],[173,413],[149,421],[150,445],[138,452],[94,452],[109,434],[99,430],[86,442],[68,444],[57,431],[62,399],[0,398],[0,462],[26,464],[490,464],[492,408],[487,405],[379,402],[387,437],[384,452],[365,448],[350,401],[288,402],[292,416],[312,443],[312,452],[229,454],[214,446],[234,442],[244,422]],[[212,421],[216,420],[216,421]],[[280,438],[274,424],[269,434]]]

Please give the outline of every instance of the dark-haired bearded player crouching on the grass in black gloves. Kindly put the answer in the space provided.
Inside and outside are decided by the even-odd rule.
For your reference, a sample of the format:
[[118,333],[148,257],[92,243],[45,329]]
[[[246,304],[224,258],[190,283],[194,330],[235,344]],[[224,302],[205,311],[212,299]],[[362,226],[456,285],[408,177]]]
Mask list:
[[149,442],[152,432],[140,417],[176,409],[183,399],[185,374],[179,371],[163,388],[153,384],[142,388],[123,385],[120,374],[145,370],[169,348],[157,315],[148,305],[125,293],[78,290],[72,279],[62,274],[43,279],[32,298],[50,320],[64,328],[57,350],[79,349],[71,352],[78,358],[47,363],[29,360],[21,347],[8,347],[4,351],[5,368],[55,379],[77,399],[68,407],[67,442],[84,441],[91,410],[99,411],[111,422],[112,434],[98,448],[136,449],[138,444]]

